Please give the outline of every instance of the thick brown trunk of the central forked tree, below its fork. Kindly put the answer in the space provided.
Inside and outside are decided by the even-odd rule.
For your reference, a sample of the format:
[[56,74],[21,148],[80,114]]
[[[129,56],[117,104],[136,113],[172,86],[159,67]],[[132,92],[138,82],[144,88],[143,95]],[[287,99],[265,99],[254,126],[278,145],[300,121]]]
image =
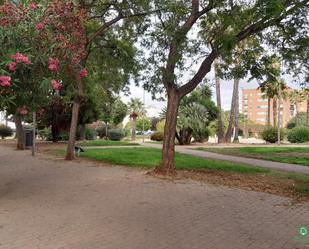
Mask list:
[[176,174],[175,168],[175,134],[177,124],[177,114],[180,97],[177,94],[177,90],[170,88],[167,90],[167,112],[164,127],[164,140],[162,149],[162,162],[155,169],[156,173],[163,175],[174,175]]

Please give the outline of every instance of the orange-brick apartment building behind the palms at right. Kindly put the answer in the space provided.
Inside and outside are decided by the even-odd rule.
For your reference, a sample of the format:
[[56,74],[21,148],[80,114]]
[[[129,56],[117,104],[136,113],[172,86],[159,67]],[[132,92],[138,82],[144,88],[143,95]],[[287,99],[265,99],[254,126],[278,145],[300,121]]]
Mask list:
[[[293,89],[288,89],[288,92],[292,92]],[[281,102],[281,125],[286,126],[292,117],[296,115],[296,109],[298,112],[306,111],[306,102],[300,102],[297,104],[297,108],[287,98]],[[251,121],[266,125],[268,116],[268,99],[259,89],[243,89],[242,90],[242,113]],[[270,120],[273,125],[273,100],[270,101]]]

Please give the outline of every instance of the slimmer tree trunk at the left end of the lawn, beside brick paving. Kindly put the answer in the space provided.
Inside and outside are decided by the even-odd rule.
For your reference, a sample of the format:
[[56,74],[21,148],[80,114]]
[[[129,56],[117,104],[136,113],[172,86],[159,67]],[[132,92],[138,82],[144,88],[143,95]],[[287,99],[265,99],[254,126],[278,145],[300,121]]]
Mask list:
[[79,107],[80,102],[78,100],[75,100],[72,108],[71,127],[67,147],[67,155],[65,158],[66,160],[73,160],[75,158],[75,140],[76,140]]

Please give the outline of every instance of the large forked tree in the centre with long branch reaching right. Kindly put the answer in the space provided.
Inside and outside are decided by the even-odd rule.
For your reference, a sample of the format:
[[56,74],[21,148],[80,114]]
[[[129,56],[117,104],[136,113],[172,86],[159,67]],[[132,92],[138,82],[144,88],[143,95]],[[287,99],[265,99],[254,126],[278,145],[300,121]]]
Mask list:
[[[247,37],[264,30],[264,34],[269,32],[269,27],[285,27],[286,21],[293,16],[299,18],[303,15],[308,0],[256,0],[250,3],[191,0],[155,1],[155,4],[162,11],[153,18],[152,28],[144,43],[151,50],[148,61],[152,62],[146,70],[146,88],[158,92],[158,84],[162,83],[167,94],[162,163],[155,171],[174,174],[174,140],[180,100],[203,81],[218,56],[234,49]],[[203,43],[193,32],[201,22],[203,36],[211,37],[208,43]],[[190,59],[186,60],[188,57]],[[198,60],[202,62],[197,71],[192,72],[190,64]],[[182,77],[186,69],[192,72],[189,80]]]

